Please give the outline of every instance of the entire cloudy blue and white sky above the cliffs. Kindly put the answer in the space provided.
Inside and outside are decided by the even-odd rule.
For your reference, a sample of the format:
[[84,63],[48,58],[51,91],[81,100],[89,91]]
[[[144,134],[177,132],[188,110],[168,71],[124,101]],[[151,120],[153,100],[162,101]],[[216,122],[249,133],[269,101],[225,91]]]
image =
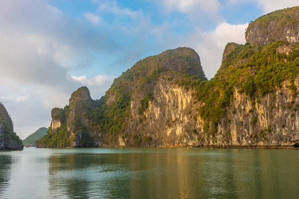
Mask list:
[[0,101],[21,139],[81,86],[99,99],[140,59],[191,47],[212,78],[250,21],[298,0],[0,0]]

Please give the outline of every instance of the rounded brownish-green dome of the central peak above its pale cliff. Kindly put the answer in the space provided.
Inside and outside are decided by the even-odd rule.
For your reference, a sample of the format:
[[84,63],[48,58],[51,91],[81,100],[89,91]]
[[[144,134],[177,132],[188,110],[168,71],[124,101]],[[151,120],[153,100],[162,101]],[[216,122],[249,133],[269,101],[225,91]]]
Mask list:
[[110,106],[120,96],[130,94],[136,87],[153,83],[156,77],[165,72],[177,72],[206,80],[200,58],[195,50],[187,47],[166,50],[138,61],[131,69],[115,79],[106,92],[106,104]]

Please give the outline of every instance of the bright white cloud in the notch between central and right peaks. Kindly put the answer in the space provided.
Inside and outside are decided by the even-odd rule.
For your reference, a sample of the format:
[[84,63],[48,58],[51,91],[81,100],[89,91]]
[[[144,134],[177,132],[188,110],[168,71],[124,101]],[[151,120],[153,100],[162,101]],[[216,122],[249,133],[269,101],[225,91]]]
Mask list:
[[201,59],[201,64],[206,76],[212,78],[221,65],[222,54],[227,43],[235,42],[244,44],[245,28],[248,23],[232,25],[229,23],[219,24],[211,32],[201,32],[198,28],[187,36],[182,45],[194,48]]

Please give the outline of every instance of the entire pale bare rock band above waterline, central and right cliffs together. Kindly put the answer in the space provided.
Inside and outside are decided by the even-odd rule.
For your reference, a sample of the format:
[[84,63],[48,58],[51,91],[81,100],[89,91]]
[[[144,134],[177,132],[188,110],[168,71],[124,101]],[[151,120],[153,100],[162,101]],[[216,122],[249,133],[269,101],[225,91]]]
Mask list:
[[[298,144],[299,99],[287,88],[289,81],[257,100],[234,90],[231,105],[212,135],[198,113],[203,104],[194,97],[196,91],[167,80],[169,76],[157,82],[154,97],[142,115],[138,113],[140,95],[135,96],[120,145],[275,147]],[[296,86],[298,82],[297,79]]]

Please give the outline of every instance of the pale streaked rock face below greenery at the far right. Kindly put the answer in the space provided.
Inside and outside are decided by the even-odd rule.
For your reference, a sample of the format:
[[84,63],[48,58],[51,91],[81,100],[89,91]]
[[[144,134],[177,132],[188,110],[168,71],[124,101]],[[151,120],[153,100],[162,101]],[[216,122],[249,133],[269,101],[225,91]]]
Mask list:
[[[299,79],[295,81],[298,87]],[[293,146],[299,142],[299,99],[289,87],[256,100],[234,91],[234,100],[221,119],[215,136],[216,146]],[[299,90],[297,89],[296,92]]]

